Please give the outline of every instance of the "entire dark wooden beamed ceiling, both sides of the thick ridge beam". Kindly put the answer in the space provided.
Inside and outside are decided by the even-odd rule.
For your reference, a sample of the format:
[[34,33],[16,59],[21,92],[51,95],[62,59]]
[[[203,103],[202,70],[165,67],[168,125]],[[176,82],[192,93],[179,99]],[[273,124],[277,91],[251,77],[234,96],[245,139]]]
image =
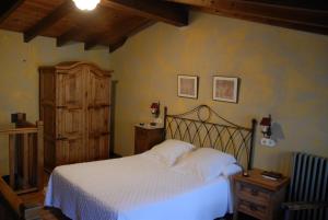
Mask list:
[[57,46],[82,42],[119,48],[133,34],[155,22],[188,25],[188,11],[199,10],[289,28],[328,35],[326,0],[102,0],[91,12],[72,0],[1,0],[0,28],[57,39]]

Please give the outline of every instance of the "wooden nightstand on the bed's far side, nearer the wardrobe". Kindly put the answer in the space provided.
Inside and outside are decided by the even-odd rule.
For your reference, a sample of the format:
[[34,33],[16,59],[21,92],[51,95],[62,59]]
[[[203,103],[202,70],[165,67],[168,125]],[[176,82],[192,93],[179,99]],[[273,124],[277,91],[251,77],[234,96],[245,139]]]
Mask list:
[[150,150],[164,140],[164,128],[148,124],[134,126],[134,154]]

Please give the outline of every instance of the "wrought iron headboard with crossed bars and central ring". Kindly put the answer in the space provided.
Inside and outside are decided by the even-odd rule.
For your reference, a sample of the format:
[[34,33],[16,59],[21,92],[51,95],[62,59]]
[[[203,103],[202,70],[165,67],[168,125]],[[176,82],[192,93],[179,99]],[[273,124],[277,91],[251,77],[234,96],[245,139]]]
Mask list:
[[[204,118],[203,111],[207,112]],[[209,147],[231,153],[244,169],[251,169],[256,119],[251,119],[250,128],[238,126],[208,105],[199,105],[178,115],[168,115],[167,107],[164,112],[166,139],[184,140],[199,148]],[[212,115],[219,123],[211,118]]]

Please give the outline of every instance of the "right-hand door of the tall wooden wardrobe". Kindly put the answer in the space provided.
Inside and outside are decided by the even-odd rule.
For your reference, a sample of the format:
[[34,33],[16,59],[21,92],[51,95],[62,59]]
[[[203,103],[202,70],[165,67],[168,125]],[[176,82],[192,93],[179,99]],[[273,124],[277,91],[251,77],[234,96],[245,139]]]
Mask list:
[[110,76],[90,68],[87,79],[89,160],[104,160],[109,157]]

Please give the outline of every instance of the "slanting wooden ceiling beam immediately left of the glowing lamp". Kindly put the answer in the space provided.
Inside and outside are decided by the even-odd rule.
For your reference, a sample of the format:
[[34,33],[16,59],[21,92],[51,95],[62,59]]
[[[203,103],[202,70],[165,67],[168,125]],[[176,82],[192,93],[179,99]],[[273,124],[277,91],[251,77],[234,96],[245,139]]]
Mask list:
[[40,34],[44,30],[48,28],[62,16],[67,15],[73,10],[73,2],[71,0],[65,1],[61,5],[55,9],[47,16],[37,22],[34,26],[24,32],[24,42],[31,42],[34,37]]

